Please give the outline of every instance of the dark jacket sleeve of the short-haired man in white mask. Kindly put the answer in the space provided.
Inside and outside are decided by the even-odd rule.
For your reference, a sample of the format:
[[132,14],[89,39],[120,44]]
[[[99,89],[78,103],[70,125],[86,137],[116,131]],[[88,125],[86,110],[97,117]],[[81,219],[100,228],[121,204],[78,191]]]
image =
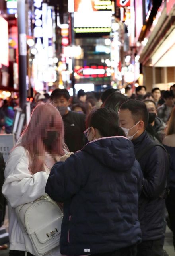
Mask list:
[[169,159],[165,150],[159,146],[152,148],[144,168],[142,191],[146,197],[156,199],[165,191],[168,168]]

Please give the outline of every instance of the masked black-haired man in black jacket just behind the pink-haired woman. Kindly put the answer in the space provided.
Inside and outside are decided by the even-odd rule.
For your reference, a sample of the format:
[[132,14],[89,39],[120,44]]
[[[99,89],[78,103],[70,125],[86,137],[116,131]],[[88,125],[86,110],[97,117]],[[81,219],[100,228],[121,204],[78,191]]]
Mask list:
[[86,115],[69,111],[70,95],[66,89],[55,89],[51,93],[51,101],[60,111],[64,121],[64,139],[71,152],[76,152],[85,145],[83,132]]

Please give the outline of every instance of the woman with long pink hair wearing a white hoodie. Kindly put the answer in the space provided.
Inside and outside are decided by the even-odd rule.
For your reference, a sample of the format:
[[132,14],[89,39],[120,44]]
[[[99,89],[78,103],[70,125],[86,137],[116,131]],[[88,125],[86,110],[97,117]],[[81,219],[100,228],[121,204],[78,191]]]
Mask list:
[[[29,237],[24,236],[20,228],[15,208],[46,195],[45,185],[50,169],[68,150],[63,138],[59,111],[52,104],[39,104],[10,153],[2,187],[2,193],[8,200],[10,256],[34,255]],[[59,256],[59,246],[47,255]]]

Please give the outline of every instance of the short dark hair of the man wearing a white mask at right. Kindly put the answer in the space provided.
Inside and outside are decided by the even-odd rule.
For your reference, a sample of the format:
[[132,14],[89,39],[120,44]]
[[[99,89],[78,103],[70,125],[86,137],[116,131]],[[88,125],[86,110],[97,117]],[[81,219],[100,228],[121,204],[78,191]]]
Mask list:
[[146,129],[148,125],[148,109],[144,102],[140,100],[128,100],[121,105],[120,109],[129,109],[131,111],[132,117],[135,123],[141,119],[144,122],[144,128]]

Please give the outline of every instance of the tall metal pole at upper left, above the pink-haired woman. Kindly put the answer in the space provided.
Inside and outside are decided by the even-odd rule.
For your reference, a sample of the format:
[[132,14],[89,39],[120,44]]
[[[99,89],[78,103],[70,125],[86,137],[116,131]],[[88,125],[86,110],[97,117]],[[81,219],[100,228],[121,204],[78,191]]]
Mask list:
[[27,98],[27,42],[25,31],[25,0],[18,0],[19,104],[25,109]]

